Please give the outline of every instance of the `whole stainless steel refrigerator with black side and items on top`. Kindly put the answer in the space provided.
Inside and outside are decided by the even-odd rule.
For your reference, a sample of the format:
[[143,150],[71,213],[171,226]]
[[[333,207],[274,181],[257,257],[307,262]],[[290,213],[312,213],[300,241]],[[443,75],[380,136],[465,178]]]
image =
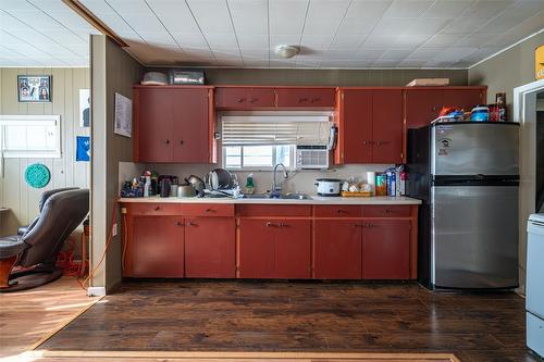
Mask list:
[[519,124],[435,123],[408,135],[408,195],[422,200],[419,280],[518,286]]

